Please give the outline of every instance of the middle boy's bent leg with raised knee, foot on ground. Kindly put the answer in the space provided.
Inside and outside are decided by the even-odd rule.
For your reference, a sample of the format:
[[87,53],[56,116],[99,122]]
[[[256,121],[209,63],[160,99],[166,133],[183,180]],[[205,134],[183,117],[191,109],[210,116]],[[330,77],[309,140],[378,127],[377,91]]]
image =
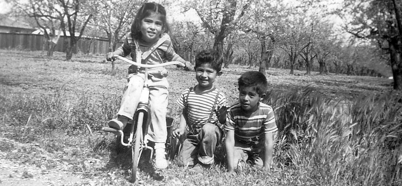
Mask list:
[[198,161],[203,164],[214,163],[215,148],[221,140],[221,131],[211,123],[207,123],[199,132]]

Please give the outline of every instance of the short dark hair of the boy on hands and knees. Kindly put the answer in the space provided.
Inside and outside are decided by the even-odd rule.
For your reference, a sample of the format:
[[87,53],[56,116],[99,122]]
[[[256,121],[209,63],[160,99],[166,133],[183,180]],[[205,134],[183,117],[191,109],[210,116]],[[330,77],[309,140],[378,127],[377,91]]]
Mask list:
[[265,94],[268,81],[265,75],[259,71],[244,72],[238,79],[240,87],[253,87],[259,96]]

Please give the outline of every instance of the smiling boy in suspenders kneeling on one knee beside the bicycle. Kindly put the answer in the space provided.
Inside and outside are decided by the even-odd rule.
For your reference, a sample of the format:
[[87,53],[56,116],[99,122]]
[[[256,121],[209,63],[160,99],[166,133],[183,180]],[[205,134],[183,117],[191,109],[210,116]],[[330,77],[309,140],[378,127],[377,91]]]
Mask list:
[[215,78],[222,74],[222,56],[216,50],[204,50],[195,57],[197,85],[185,89],[177,100],[183,109],[179,128],[173,137],[180,137],[188,126],[182,148],[177,157],[178,166],[195,166],[200,171],[214,163],[214,152],[221,141],[226,121],[226,97],[215,86]]

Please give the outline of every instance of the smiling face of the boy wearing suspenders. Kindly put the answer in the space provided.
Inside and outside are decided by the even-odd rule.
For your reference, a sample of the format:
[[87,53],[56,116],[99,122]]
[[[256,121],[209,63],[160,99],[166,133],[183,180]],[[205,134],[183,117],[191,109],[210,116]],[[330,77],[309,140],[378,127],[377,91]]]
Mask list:
[[212,68],[211,64],[204,63],[195,69],[195,79],[198,81],[200,90],[209,90],[213,87],[215,78],[222,74],[222,71],[217,72]]

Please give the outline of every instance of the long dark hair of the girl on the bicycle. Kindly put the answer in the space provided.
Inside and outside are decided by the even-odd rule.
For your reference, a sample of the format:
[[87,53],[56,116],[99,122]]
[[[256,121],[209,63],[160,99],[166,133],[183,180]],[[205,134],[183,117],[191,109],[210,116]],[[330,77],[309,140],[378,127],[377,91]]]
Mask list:
[[138,10],[137,15],[135,16],[135,19],[133,21],[133,24],[131,25],[131,35],[134,39],[141,39],[142,33],[141,33],[141,21],[145,17],[150,16],[153,13],[157,13],[160,16],[160,19],[163,22],[163,28],[162,28],[162,33],[169,33],[170,28],[169,25],[167,24],[166,20],[166,10],[165,8],[157,3],[144,3],[144,5],[141,6],[141,8]]

